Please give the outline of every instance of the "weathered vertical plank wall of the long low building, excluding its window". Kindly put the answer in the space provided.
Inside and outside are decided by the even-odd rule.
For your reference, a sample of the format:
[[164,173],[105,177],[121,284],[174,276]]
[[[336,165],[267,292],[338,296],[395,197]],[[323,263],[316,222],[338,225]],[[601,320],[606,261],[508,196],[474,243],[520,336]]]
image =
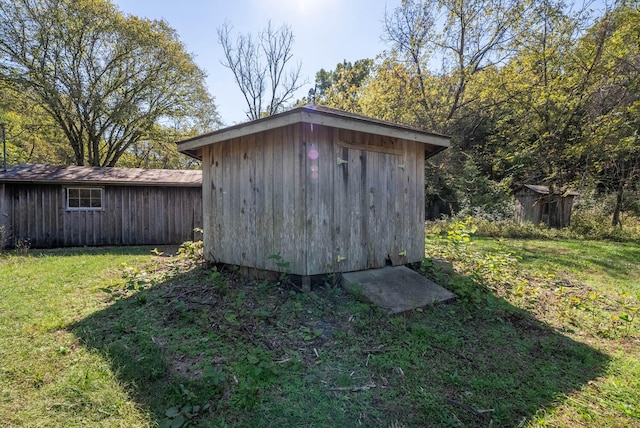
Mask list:
[[102,187],[102,210],[69,211],[61,185],[0,184],[0,217],[10,232],[9,243],[28,239],[32,247],[47,248],[199,239],[193,229],[202,228],[200,188]]

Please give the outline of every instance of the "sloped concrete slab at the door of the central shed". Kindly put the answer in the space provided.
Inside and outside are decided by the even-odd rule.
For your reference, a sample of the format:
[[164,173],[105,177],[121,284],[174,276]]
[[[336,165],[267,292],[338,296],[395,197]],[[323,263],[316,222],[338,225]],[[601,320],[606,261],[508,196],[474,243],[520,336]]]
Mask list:
[[444,303],[456,295],[406,266],[386,266],[342,274],[343,286],[391,314]]

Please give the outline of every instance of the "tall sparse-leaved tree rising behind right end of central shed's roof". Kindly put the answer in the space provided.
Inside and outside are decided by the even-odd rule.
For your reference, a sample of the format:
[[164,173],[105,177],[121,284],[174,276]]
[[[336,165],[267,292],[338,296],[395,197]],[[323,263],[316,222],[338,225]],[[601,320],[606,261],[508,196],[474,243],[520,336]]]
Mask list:
[[462,109],[474,102],[469,81],[507,58],[522,13],[523,0],[404,0],[386,14],[384,37],[415,76],[426,127],[455,133]]

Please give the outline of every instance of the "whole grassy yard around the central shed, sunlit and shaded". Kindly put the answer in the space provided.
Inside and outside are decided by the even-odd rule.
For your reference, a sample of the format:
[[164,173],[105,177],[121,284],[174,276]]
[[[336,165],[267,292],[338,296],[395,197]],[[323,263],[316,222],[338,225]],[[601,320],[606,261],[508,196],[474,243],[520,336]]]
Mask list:
[[398,316],[194,246],[5,254],[0,421],[640,426],[637,246],[460,238],[428,240],[453,270],[422,266],[460,298]]

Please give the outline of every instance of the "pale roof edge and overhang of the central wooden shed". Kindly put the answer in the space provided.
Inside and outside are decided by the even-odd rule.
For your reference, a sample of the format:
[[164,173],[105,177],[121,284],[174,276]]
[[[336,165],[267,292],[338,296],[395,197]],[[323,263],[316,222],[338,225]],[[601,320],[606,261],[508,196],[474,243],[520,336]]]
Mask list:
[[178,150],[196,159],[201,159],[202,147],[297,123],[323,125],[424,143],[429,146],[427,157],[433,156],[450,146],[450,138],[446,135],[372,119],[324,106],[309,105],[297,107],[287,112],[252,122],[220,129],[188,140],[179,141],[177,143]]

